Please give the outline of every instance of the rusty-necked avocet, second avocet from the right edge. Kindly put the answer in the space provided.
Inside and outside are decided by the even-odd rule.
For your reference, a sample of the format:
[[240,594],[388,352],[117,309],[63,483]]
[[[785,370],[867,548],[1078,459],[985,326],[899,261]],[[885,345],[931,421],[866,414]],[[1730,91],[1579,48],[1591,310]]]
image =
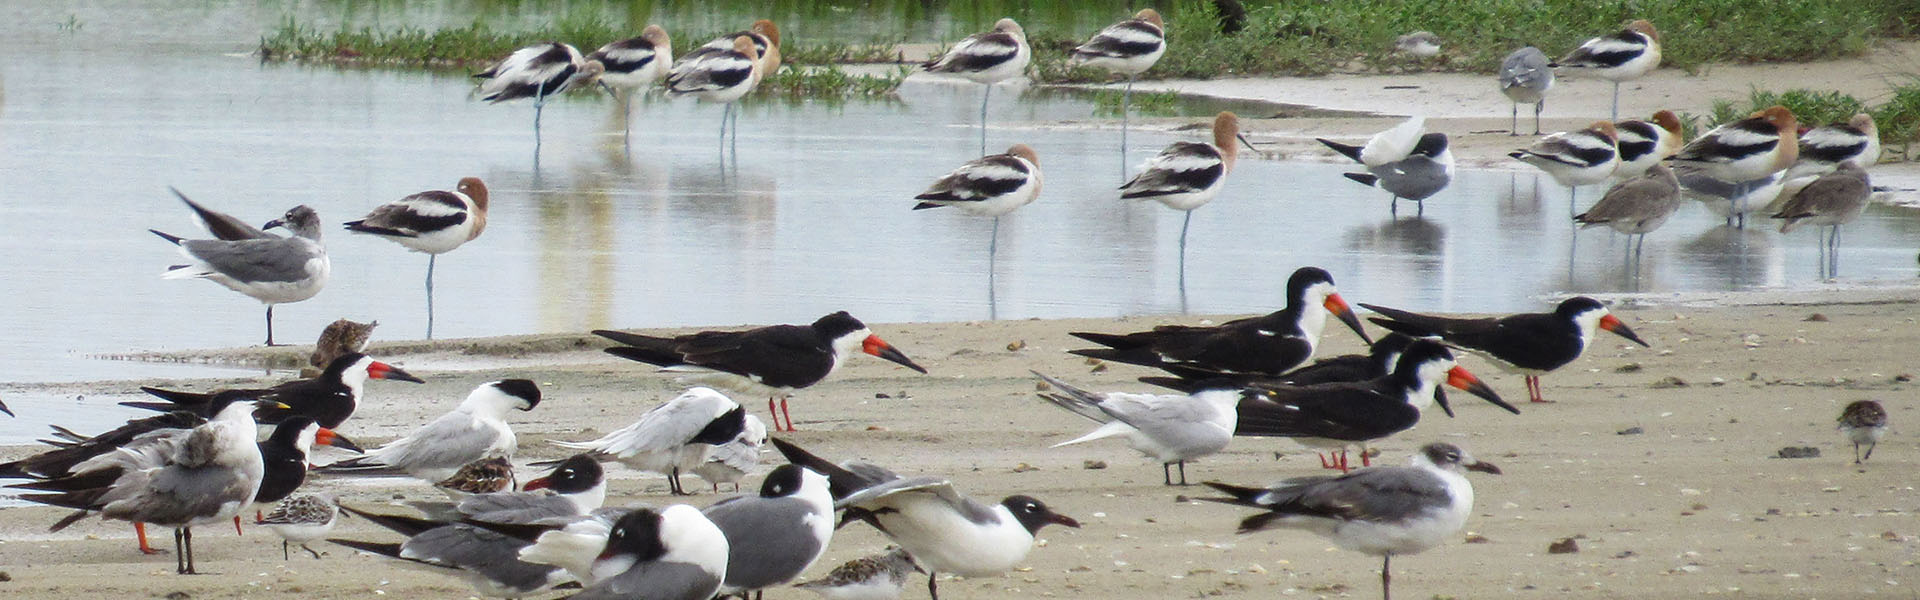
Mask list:
[[1693,138],[1674,154],[1676,165],[1695,165],[1720,181],[1755,181],[1791,167],[1799,158],[1799,119],[1772,106]]

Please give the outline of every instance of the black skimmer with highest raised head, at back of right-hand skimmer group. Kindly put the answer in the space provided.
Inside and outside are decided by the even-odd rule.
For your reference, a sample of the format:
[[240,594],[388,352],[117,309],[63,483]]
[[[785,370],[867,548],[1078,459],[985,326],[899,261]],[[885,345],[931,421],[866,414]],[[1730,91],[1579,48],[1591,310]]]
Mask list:
[[1300,267],[1286,279],[1286,308],[1263,317],[1233,319],[1213,327],[1162,325],[1152,331],[1112,335],[1075,331],[1073,337],[1106,348],[1071,350],[1079,356],[1146,365],[1187,375],[1281,375],[1313,358],[1321,329],[1332,313],[1369,344],[1373,338],[1319,267]]

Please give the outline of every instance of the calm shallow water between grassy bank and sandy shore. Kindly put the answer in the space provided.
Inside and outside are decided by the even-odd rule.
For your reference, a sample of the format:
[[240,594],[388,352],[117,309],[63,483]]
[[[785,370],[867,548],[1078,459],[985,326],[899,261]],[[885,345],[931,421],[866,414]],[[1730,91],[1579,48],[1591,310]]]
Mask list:
[[[1002,223],[989,290],[993,223],[908,210],[977,156],[973,85],[916,79],[897,102],[758,102],[726,162],[716,106],[636,106],[628,152],[612,104],[564,100],[547,106],[536,154],[532,108],[474,102],[465,77],[261,65],[223,52],[244,52],[248,27],[273,13],[186,17],[202,21],[173,37],[165,21],[138,21],[157,31],[138,44],[94,44],[113,37],[94,17],[60,33],[54,15],[27,15],[13,27],[29,31],[0,37],[13,58],[0,63],[0,379],[244,373],[88,358],[263,338],[257,302],[157,277],[177,256],[144,229],[198,233],[169,185],[255,223],[294,204],[340,223],[486,179],[486,235],[438,265],[436,337],[804,323],[833,310],[876,323],[1244,313],[1277,308],[1298,265],[1327,267],[1350,300],[1436,312],[1818,281],[1812,233],[1728,233],[1697,206],[1651,235],[1630,277],[1624,237],[1574,237],[1565,190],[1530,171],[1463,171],[1425,217],[1404,204],[1396,219],[1340,165],[1246,160],[1194,212],[1181,287],[1181,215],[1116,198],[1117,131],[1029,127],[1092,108],[996,88],[991,121],[1020,125],[995,127],[989,144],[1033,144],[1046,188]],[[1127,162],[1173,138],[1192,137],[1137,131]],[[1914,229],[1908,212],[1870,210],[1843,233],[1841,275],[1912,279]],[[424,335],[424,256],[338,225],[326,242],[332,283],[276,312],[282,340],[311,340],[336,317],[378,319],[380,338]]]

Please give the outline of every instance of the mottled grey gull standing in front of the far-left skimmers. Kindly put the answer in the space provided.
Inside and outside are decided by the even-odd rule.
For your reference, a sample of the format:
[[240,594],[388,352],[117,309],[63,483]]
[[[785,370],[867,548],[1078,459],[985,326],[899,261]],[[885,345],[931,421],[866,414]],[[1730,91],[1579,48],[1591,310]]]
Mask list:
[[240,515],[259,492],[265,463],[253,442],[253,404],[223,398],[213,417],[184,435],[146,435],[121,452],[81,462],[71,475],[15,488],[21,500],[77,510],[54,523],[65,529],[92,513],[108,519],[173,527],[175,571],[194,573],[194,525]]

